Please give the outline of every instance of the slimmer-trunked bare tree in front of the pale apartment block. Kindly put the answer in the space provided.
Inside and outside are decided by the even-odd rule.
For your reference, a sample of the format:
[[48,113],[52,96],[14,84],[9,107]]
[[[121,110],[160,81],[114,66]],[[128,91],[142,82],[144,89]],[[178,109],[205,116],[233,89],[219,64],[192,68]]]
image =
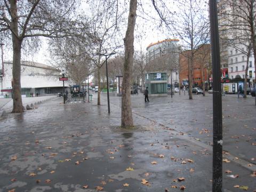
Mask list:
[[[225,30],[229,33],[227,38],[230,39],[236,47],[242,44],[247,48],[246,52],[244,52],[247,56],[247,61],[249,61],[249,51],[250,47],[252,47],[254,68],[256,69],[256,1],[224,0],[222,3],[224,3],[225,6],[220,7],[219,13],[221,14],[221,18],[226,21],[222,25],[225,26]],[[256,70],[254,73],[256,79]],[[247,72],[245,76],[247,81]],[[247,84],[245,83],[245,88],[246,86]],[[244,93],[246,93],[246,89],[244,89]]]

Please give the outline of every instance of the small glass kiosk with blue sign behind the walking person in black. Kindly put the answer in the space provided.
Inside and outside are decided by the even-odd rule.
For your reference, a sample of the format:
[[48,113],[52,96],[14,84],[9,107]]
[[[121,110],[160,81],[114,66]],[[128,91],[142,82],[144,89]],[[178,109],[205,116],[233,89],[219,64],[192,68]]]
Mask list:
[[145,87],[148,87],[149,97],[167,96],[167,73],[147,73],[145,76]]

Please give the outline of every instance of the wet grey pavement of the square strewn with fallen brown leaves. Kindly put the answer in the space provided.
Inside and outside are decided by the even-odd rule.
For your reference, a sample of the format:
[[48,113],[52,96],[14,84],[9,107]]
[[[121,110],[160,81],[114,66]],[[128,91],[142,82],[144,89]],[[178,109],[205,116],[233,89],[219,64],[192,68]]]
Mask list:
[[[106,95],[101,106],[96,96],[66,105],[56,98],[2,118],[0,191],[211,191],[212,95],[149,103],[133,95],[134,130],[119,127],[121,98],[111,95],[108,115]],[[256,189],[253,102],[223,98],[225,191]]]

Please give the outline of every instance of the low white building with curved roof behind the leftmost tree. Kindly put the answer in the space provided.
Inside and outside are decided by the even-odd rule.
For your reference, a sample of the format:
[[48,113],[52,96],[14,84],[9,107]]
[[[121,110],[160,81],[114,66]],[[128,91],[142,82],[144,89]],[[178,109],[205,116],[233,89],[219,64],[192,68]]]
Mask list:
[[[2,69],[1,69],[2,71]],[[4,62],[4,75],[1,74],[1,95],[12,94],[12,61]],[[60,70],[42,63],[21,61],[21,94],[22,97],[55,94],[63,92],[63,82],[59,81]],[[65,88],[72,84],[65,82]]]

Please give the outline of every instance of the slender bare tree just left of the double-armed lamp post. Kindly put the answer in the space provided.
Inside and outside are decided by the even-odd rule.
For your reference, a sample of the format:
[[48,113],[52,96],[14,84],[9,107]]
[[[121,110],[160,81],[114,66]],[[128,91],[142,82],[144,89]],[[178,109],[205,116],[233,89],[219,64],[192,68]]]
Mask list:
[[[101,98],[101,68],[105,63],[100,54],[113,53],[122,47],[119,29],[122,28],[123,14],[126,11],[118,10],[119,6],[121,5],[119,5],[118,0],[90,1],[90,29],[91,34],[93,34],[93,44],[89,54],[95,65],[95,76],[98,78],[98,105],[100,105]],[[97,53],[100,54],[97,55]]]

